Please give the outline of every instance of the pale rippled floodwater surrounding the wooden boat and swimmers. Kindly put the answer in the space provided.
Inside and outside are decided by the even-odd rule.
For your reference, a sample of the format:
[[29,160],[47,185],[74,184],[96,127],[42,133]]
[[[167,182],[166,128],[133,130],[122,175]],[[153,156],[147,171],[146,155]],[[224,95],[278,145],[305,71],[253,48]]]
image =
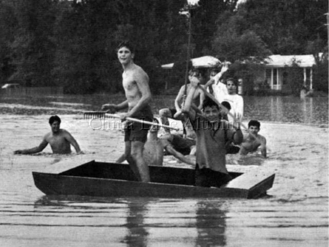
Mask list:
[[[57,102],[62,104],[42,104],[38,109],[72,108],[67,105],[70,101]],[[24,111],[17,102],[4,103],[6,111]],[[304,114],[299,112],[302,103],[296,116]],[[313,116],[323,115],[312,111]],[[255,115],[262,120],[260,113]],[[47,197],[34,186],[32,171],[60,172],[67,163],[114,161],[123,151],[123,133],[93,130],[79,113],[61,115],[61,127],[71,132],[85,154],[72,150],[70,155],[54,155],[47,147],[40,154],[13,155],[15,149],[39,145],[50,130],[49,115],[4,113],[0,115],[0,246],[327,246],[327,115],[313,125],[278,123],[265,115],[260,133],[267,138],[269,157],[228,155],[227,163],[232,171],[259,168],[276,173],[269,196],[207,200]],[[185,166],[172,157],[165,163]]]

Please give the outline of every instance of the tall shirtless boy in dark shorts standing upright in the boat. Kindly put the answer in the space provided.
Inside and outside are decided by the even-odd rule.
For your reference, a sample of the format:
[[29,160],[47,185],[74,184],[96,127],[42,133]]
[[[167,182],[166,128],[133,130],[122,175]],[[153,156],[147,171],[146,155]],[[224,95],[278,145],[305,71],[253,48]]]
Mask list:
[[[117,55],[123,67],[122,85],[126,100],[119,104],[103,104],[102,109],[116,112],[127,108],[128,112],[119,113],[121,121],[126,117],[152,121],[149,76],[134,63],[134,49],[128,42],[119,44]],[[127,121],[124,129],[124,155],[138,181],[142,182],[150,182],[149,167],[142,155],[148,128],[148,125]]]

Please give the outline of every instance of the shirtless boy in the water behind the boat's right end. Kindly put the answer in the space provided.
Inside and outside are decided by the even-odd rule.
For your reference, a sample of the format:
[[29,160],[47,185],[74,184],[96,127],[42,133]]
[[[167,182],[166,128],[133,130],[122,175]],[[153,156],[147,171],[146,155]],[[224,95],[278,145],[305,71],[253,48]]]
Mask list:
[[261,147],[261,153],[266,157],[266,138],[258,134],[261,129],[260,127],[261,123],[257,120],[250,120],[248,122],[249,134],[244,138],[241,144],[240,154],[246,155],[249,152],[257,151],[258,147]]

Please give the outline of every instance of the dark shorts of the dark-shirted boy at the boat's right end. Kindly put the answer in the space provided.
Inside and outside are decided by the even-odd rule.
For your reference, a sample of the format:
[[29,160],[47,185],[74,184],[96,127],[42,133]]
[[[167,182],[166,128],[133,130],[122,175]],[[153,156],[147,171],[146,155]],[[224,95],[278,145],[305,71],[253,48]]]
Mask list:
[[229,174],[213,171],[209,168],[201,168],[195,166],[195,186],[201,187],[221,187],[227,184],[232,177]]

